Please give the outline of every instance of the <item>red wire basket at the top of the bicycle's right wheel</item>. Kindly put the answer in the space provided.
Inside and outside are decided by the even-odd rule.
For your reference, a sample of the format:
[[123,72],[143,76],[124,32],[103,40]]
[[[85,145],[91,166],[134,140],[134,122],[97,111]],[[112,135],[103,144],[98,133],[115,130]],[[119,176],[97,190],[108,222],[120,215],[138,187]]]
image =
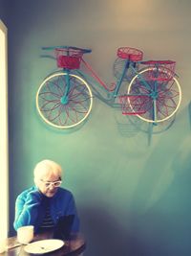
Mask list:
[[148,60],[141,62],[148,66],[148,79],[151,81],[171,81],[175,76],[176,62],[173,60]]

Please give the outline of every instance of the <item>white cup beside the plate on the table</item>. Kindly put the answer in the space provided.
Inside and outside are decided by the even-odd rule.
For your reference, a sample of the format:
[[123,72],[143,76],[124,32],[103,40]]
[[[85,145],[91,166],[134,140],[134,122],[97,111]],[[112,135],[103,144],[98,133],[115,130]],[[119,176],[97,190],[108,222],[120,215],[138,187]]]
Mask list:
[[17,240],[21,244],[29,244],[33,239],[33,225],[21,226],[17,229]]

